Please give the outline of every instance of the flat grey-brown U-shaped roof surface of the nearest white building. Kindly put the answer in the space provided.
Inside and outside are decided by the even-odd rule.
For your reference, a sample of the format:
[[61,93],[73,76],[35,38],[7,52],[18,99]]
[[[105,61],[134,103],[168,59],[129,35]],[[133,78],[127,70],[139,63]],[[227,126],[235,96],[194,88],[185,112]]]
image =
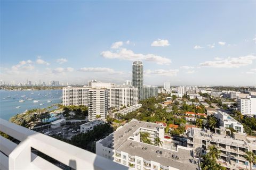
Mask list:
[[[182,147],[179,146],[177,150],[170,150],[129,139],[133,137],[133,133],[139,128],[157,130],[161,128],[161,125],[132,120],[124,125],[123,128],[118,129],[105,139],[102,139],[100,143],[104,147],[124,151],[131,156],[139,156],[148,161],[152,160],[163,166],[170,166],[180,170],[187,170],[188,167],[193,170],[198,169],[198,160],[193,157],[193,149],[182,149]],[[146,147],[147,150],[143,149]],[[157,154],[158,151],[162,151],[162,154]],[[175,159],[172,156],[177,156],[179,159]]]

